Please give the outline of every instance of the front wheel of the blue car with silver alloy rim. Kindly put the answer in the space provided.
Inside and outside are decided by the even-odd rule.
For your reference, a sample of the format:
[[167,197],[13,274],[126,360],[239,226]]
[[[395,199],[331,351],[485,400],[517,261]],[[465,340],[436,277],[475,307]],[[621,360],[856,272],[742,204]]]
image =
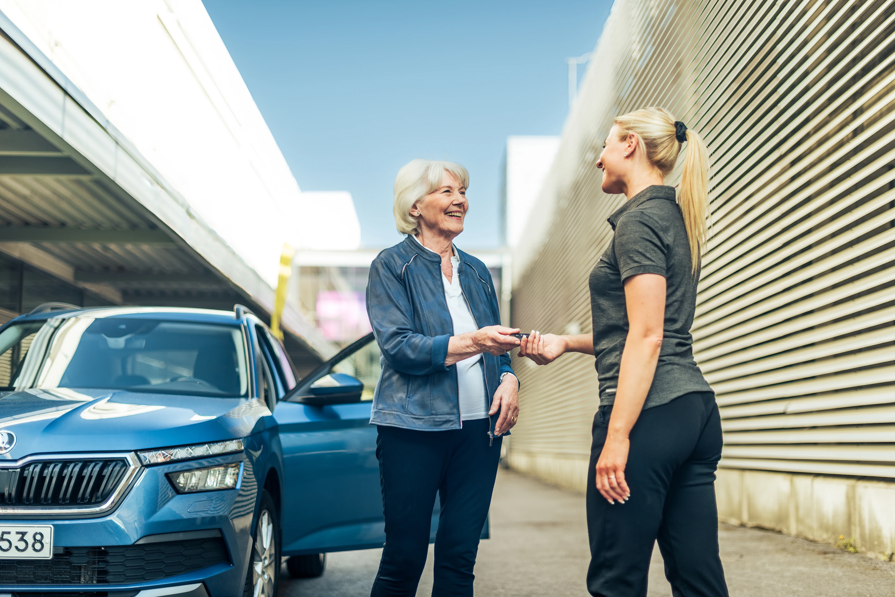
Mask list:
[[280,531],[274,500],[261,490],[258,521],[251,541],[251,561],[245,575],[243,597],[277,597],[280,567]]

